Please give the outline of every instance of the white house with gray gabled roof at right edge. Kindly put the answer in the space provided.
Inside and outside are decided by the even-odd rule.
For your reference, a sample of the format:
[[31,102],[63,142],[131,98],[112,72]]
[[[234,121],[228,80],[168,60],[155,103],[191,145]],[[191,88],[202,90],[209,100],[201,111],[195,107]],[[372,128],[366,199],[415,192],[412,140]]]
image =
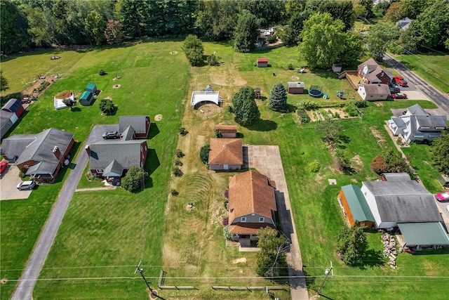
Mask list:
[[389,129],[403,141],[433,141],[448,126],[447,116],[431,116],[419,104],[407,108],[404,115],[392,116]]

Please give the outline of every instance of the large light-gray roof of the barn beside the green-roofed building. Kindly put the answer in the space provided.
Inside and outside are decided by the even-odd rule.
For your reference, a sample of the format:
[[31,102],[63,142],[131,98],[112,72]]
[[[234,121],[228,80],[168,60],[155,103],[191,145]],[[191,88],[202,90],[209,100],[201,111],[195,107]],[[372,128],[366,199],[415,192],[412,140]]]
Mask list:
[[363,181],[375,196],[384,222],[438,222],[434,195],[416,181]]

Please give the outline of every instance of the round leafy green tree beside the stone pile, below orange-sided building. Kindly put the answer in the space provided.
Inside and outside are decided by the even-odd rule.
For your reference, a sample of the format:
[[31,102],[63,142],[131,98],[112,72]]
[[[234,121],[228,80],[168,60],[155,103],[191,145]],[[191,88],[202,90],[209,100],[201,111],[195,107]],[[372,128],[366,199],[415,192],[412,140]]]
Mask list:
[[344,226],[337,237],[337,252],[342,256],[342,261],[349,266],[361,262],[363,253],[368,249],[366,235],[363,227],[356,224],[354,227]]

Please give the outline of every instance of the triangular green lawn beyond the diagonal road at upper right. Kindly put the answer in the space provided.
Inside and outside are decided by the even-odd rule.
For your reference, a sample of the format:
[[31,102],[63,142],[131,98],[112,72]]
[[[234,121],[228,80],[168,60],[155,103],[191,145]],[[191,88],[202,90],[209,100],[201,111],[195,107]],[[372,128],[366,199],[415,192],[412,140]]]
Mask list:
[[443,93],[449,91],[449,53],[431,52],[394,56],[410,70],[420,75]]

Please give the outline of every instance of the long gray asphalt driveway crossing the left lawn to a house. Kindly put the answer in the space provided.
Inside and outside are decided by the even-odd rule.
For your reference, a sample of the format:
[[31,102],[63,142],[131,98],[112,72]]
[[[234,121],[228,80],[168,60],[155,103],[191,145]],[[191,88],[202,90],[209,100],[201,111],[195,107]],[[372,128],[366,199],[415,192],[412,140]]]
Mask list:
[[84,167],[86,167],[88,156],[84,152],[84,147],[89,143],[95,143],[96,141],[102,140],[102,133],[105,131],[118,129],[119,126],[117,124],[98,125],[93,127],[91,135],[89,136],[86,144],[83,145],[83,148],[76,159],[76,166],[70,172],[69,178],[67,178],[64,186],[62,187],[58,201],[56,202],[55,207],[53,207],[53,211],[51,211],[50,217],[43,228],[36,247],[34,247],[27,266],[20,277],[18,286],[15,288],[15,292],[11,298],[12,300],[32,300],[36,280],[39,278],[39,273],[41,273],[41,268],[46,260],[48,252],[50,251],[53,240],[55,240],[56,233],[58,233],[62,218],[65,215],[67,207],[69,207],[70,200],[72,200],[76,185],[83,175]]

